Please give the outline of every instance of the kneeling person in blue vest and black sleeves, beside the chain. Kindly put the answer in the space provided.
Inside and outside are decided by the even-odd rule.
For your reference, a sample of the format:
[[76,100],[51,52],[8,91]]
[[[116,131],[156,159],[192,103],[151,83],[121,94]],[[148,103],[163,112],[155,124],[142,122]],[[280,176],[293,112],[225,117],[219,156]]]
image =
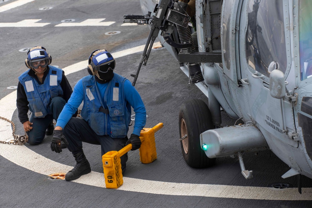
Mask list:
[[[45,135],[52,135],[53,119],[57,120],[73,90],[64,71],[50,65],[52,59],[44,47],[33,47],[27,55],[25,64],[29,70],[18,77],[16,105],[28,143],[36,145]],[[62,148],[66,148],[64,143]]]

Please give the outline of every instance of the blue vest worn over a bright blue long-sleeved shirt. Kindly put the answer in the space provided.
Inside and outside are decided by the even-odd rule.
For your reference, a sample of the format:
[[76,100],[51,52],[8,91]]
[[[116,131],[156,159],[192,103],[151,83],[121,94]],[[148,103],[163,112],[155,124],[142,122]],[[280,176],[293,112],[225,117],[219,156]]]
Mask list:
[[124,100],[125,80],[127,79],[114,74],[105,90],[103,105],[94,76],[82,78],[85,92],[81,117],[89,123],[97,135],[109,135],[111,138],[127,136],[131,121],[131,106]]

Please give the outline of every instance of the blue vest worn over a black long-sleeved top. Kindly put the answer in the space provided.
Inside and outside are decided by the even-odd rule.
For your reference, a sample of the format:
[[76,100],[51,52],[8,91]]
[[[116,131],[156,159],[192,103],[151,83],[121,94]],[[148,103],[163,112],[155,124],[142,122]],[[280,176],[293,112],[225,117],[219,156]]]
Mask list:
[[63,70],[49,65],[49,72],[43,84],[39,84],[36,79],[28,75],[29,70],[20,75],[18,80],[25,89],[29,110],[35,118],[43,118],[51,114],[51,99],[63,94],[60,86]]

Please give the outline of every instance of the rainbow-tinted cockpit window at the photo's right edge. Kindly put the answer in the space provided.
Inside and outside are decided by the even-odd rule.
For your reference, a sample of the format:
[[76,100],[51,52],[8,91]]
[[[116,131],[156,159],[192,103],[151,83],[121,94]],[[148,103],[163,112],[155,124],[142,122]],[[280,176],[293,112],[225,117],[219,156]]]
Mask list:
[[299,1],[299,46],[300,78],[312,77],[312,5],[310,1]]

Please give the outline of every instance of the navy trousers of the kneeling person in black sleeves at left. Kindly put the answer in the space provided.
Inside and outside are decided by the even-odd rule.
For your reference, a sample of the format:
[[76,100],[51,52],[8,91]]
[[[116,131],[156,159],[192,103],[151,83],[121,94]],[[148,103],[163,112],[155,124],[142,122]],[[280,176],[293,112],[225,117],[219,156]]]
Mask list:
[[52,114],[46,115],[44,118],[34,118],[32,114],[29,121],[32,123],[32,129],[27,132],[28,143],[31,145],[40,144],[46,136],[46,129],[53,119],[57,120],[66,101],[61,97],[54,97],[50,103]]

